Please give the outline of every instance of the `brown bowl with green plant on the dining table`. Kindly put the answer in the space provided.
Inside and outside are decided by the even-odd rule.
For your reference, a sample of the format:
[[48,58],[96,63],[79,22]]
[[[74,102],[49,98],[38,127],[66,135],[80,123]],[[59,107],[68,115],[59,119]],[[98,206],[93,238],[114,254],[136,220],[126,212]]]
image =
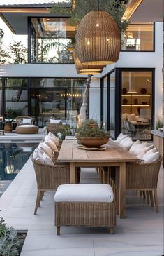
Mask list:
[[88,119],[77,129],[77,142],[86,147],[100,147],[109,140],[110,133],[99,128],[96,121]]

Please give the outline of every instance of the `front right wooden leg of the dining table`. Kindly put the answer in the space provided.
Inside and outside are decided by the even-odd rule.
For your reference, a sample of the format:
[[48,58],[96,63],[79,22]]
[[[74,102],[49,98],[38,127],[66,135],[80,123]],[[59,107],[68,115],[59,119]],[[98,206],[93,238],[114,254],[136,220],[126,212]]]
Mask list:
[[126,163],[121,163],[119,169],[119,217],[126,218]]

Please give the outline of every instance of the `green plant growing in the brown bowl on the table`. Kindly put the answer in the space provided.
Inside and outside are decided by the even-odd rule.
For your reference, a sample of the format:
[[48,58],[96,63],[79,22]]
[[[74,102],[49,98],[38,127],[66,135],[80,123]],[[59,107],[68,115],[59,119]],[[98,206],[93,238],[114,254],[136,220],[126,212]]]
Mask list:
[[110,133],[97,127],[91,127],[91,124],[96,123],[93,119],[88,119],[82,126],[77,129],[76,137],[109,137]]

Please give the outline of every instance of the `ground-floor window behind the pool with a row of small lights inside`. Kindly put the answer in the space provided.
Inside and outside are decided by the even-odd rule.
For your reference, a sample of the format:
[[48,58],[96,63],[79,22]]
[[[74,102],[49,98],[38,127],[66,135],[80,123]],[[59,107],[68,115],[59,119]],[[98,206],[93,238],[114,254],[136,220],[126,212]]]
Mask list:
[[82,105],[86,79],[31,79],[31,116],[38,126],[50,117],[75,127]]

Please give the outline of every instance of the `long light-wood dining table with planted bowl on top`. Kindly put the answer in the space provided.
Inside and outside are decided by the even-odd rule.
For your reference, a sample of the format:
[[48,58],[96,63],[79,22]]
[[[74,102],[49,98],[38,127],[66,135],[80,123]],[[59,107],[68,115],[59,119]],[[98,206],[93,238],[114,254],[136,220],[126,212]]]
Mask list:
[[126,163],[140,161],[117,144],[105,144],[105,151],[78,149],[77,140],[63,140],[57,161],[70,163],[70,183],[77,183],[77,167],[119,167],[119,216],[126,217]]

